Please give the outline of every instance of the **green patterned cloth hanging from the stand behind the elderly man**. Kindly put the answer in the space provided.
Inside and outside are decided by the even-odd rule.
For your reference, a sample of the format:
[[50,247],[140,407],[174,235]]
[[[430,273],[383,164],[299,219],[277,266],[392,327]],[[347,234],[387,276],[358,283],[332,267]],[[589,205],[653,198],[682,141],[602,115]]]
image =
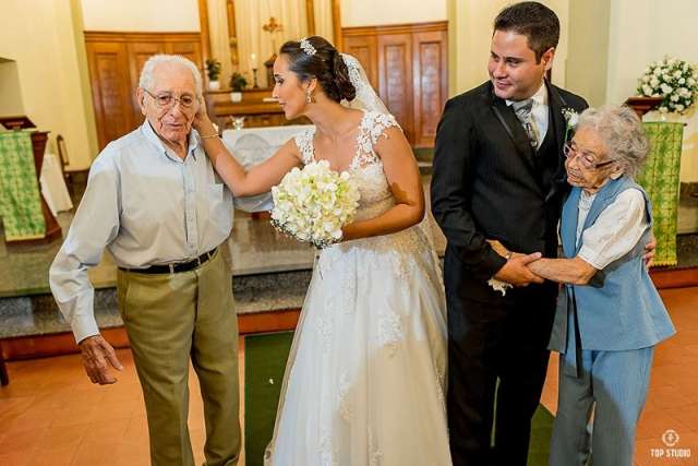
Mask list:
[[31,131],[0,132],[0,217],[7,241],[44,238]]

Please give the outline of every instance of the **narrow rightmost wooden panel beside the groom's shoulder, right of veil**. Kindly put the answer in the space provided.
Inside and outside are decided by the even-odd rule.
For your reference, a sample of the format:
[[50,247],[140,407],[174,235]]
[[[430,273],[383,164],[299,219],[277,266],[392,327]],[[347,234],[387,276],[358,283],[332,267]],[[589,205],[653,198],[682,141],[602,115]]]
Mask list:
[[448,97],[447,33],[416,33],[412,40],[414,145],[430,146]]

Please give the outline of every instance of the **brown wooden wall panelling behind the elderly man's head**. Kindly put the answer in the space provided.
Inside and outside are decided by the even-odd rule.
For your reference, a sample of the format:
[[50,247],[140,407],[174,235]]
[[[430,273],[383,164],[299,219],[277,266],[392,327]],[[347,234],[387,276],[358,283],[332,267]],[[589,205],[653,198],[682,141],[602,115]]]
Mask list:
[[155,53],[177,53],[203,70],[198,33],[85,32],[99,148],[143,122],[135,91],[143,63]]

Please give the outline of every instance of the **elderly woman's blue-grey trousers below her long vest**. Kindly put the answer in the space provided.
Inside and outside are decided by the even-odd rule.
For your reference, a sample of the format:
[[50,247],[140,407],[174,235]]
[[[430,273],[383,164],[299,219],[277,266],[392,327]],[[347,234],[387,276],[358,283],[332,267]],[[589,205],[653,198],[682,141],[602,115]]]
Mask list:
[[[570,331],[567,348],[574,345]],[[574,349],[559,355],[551,466],[587,465],[590,457],[593,466],[633,466],[653,354],[652,346],[627,351],[581,349],[576,360]],[[579,374],[574,370],[577,365]]]

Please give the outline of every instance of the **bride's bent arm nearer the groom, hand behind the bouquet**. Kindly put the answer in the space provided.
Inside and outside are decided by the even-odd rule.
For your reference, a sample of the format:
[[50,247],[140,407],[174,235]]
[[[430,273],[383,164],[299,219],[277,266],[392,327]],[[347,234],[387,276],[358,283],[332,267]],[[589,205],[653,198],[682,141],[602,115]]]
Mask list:
[[412,150],[398,128],[385,131],[374,150],[383,160],[385,177],[395,196],[395,206],[368,220],[342,228],[344,240],[388,235],[417,225],[424,217],[424,191]]

